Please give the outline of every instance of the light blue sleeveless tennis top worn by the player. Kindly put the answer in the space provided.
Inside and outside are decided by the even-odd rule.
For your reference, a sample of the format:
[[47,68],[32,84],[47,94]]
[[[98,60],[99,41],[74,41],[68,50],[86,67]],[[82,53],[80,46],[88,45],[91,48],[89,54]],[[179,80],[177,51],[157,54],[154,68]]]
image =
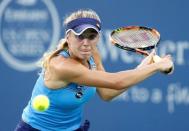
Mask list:
[[[69,57],[67,51],[60,52],[65,58]],[[93,58],[89,60],[90,68],[96,67]],[[83,96],[76,98],[77,91],[81,90]],[[96,93],[95,87],[80,86],[70,83],[60,89],[49,89],[44,85],[43,73],[39,76],[30,101],[23,110],[22,119],[32,127],[42,131],[73,131],[80,127],[83,105]],[[32,108],[31,102],[37,95],[46,95],[50,100],[49,108],[44,112]]]

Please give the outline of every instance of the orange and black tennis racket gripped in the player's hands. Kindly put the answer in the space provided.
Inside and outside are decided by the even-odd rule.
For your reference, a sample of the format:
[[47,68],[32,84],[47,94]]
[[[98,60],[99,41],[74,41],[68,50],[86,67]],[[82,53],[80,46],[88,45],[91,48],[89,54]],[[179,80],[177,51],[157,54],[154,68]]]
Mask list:
[[[121,27],[111,32],[110,41],[120,49],[148,56],[148,51],[156,49],[159,44],[160,33],[156,29],[144,26]],[[155,55],[153,60],[159,62],[161,57]],[[171,74],[173,69],[174,66],[163,73]]]

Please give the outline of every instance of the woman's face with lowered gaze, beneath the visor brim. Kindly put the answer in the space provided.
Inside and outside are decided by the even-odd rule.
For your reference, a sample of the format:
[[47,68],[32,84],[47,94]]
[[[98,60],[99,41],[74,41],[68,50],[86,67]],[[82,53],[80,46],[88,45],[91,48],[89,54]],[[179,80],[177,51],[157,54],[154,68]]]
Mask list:
[[87,29],[81,35],[75,35],[72,31],[67,34],[69,53],[74,58],[88,60],[92,55],[92,49],[99,41],[99,34],[94,29]]

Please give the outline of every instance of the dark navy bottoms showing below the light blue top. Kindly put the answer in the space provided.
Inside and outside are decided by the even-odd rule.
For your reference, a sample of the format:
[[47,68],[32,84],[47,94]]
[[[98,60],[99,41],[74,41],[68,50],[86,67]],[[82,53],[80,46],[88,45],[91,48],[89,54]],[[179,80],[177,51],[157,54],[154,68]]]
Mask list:
[[[85,123],[75,131],[88,131],[89,130],[89,126],[90,126],[90,122],[88,120],[85,120]],[[18,123],[18,125],[16,126],[14,131],[39,131],[39,130],[33,128],[32,126],[30,126],[29,124],[27,124],[26,122],[21,120]]]

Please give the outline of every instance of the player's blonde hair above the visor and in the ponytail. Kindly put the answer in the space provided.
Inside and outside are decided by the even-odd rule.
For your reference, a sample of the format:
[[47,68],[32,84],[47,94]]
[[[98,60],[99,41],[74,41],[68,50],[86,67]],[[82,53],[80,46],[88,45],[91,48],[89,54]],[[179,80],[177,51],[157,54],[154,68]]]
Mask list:
[[[70,15],[66,16],[66,18],[63,21],[63,25],[67,25],[70,21],[77,19],[77,18],[94,18],[100,22],[100,17],[97,15],[97,13],[91,9],[83,9],[78,10]],[[54,56],[57,56],[61,51],[68,49],[68,43],[65,38],[61,39],[57,45],[56,50],[51,51],[49,53],[45,53],[43,58],[40,61],[40,67],[47,69],[49,67],[49,62],[51,58]]]

